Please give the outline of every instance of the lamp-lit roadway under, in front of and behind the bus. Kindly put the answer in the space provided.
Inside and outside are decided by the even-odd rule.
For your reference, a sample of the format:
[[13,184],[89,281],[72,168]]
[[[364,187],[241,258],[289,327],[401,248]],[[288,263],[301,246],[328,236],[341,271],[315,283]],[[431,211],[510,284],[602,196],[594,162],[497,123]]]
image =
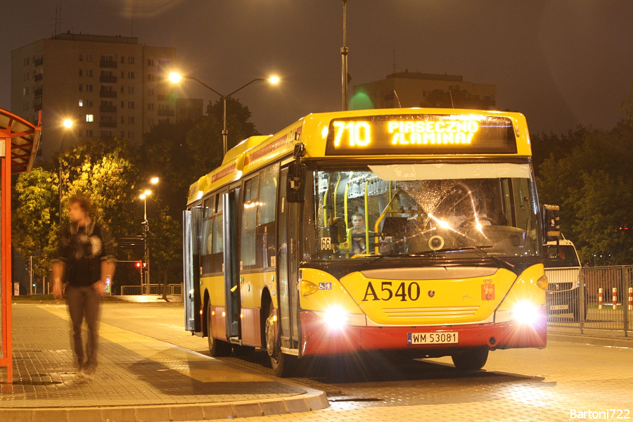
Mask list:
[[[184,331],[183,320],[181,303],[109,302],[102,314],[107,324],[208,354],[206,338]],[[222,360],[272,373],[265,352]],[[326,391],[331,407],[279,416],[280,421],[395,421],[421,415],[442,421],[568,421],[580,412],[584,418],[633,418],[633,349],[622,347],[550,342],[544,350],[498,350],[475,373],[456,371],[450,358],[336,359],[311,362],[292,379]]]

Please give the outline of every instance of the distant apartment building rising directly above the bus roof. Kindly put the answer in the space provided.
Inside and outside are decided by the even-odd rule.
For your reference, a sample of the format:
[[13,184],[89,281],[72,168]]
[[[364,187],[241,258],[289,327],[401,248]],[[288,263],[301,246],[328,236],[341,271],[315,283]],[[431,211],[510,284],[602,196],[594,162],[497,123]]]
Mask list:
[[431,91],[448,92],[459,87],[494,107],[497,104],[497,86],[464,82],[461,75],[436,75],[421,72],[397,72],[385,79],[354,86],[354,96],[365,94],[373,108],[424,107]]

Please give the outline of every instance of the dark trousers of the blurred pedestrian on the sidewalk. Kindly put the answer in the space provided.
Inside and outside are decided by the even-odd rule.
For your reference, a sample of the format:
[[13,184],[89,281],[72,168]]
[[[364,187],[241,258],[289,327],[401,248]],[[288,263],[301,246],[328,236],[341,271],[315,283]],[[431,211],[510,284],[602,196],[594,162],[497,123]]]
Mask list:
[[[99,330],[99,305],[101,295],[94,288],[68,286],[66,288],[66,303],[70,314],[70,337],[75,348],[75,357],[79,369],[94,371],[97,366],[97,347]],[[82,323],[86,319],[88,339],[86,353],[82,342]],[[85,358],[85,360],[84,360]]]

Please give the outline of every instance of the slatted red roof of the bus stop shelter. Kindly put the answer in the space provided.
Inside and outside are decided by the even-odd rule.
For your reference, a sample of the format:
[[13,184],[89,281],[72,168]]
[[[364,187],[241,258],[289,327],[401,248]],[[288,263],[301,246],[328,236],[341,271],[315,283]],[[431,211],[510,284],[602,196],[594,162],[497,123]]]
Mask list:
[[[36,125],[0,108],[0,141],[6,139],[6,157],[11,156],[11,174],[29,172],[41,137],[41,112]],[[11,139],[11,142],[9,142]]]

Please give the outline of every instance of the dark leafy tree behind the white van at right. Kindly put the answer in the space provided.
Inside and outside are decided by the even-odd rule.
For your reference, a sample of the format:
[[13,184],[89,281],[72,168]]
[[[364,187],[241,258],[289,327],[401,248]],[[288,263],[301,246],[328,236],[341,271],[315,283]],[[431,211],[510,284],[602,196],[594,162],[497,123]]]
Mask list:
[[561,229],[584,262],[629,264],[633,238],[617,229],[633,222],[633,127],[587,128],[567,155],[539,167],[539,200],[561,205]]

